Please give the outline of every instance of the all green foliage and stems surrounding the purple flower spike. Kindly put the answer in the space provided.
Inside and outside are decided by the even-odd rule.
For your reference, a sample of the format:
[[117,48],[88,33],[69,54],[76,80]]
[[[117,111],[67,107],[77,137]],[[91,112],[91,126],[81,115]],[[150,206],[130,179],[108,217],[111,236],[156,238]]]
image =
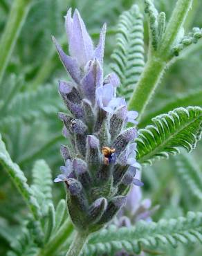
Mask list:
[[[16,8],[17,3],[30,5]],[[125,249],[146,256],[201,256],[198,0],[0,1],[0,56],[6,56],[6,61],[0,57],[0,255],[64,256],[73,239],[65,193],[53,185],[64,143],[56,116],[64,106],[56,80],[67,77],[50,37],[59,38],[66,52],[67,6],[80,11],[95,42],[107,22],[104,71],[118,75],[117,95],[139,112],[141,191],[144,199],[160,205],[149,212],[152,222],[111,225],[91,235],[83,255],[116,255]],[[9,16],[10,10],[15,15]],[[196,143],[191,156],[183,152],[193,151]]]

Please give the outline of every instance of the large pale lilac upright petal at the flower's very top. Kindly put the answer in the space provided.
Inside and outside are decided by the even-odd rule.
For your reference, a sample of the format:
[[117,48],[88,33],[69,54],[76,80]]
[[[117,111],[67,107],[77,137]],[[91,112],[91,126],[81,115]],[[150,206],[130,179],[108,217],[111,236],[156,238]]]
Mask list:
[[69,52],[77,59],[80,66],[85,66],[86,62],[93,57],[93,42],[77,10],[73,14],[72,31],[68,45]]

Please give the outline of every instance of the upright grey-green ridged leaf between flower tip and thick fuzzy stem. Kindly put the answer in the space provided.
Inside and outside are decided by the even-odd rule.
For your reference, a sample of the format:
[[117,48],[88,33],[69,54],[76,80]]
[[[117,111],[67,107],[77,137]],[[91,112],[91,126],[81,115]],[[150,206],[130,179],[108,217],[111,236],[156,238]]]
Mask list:
[[111,69],[120,77],[118,94],[129,100],[145,66],[143,15],[138,6],[132,6],[120,16],[116,40]]

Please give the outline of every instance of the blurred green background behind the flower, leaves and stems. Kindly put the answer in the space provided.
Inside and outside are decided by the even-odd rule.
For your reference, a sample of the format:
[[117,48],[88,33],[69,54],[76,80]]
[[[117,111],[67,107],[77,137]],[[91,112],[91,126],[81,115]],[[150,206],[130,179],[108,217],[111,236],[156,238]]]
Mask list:
[[[0,0],[0,36],[8,21],[12,6],[11,0]],[[170,16],[175,0],[155,0],[156,7]],[[68,80],[68,75],[59,62],[51,41],[54,35],[68,51],[64,30],[64,15],[69,7],[80,10],[89,33],[98,42],[100,28],[107,22],[107,41],[105,46],[105,72],[109,71],[110,55],[116,44],[116,24],[119,15],[138,3],[144,14],[143,1],[131,0],[33,0],[26,21],[10,57],[6,73],[0,85],[0,132],[12,160],[18,163],[28,181],[30,170],[37,159],[44,158],[53,177],[59,172],[62,158],[59,145],[66,143],[62,137],[62,123],[57,112],[64,110],[57,93],[57,80]],[[194,0],[194,6],[187,18],[185,30],[194,26],[202,27],[202,3]],[[145,26],[145,53],[147,53],[147,17]],[[145,54],[145,60],[147,55]],[[202,107],[202,98],[194,101],[194,95],[201,93],[202,85],[202,41],[188,48],[167,70],[156,95],[145,112],[140,127],[148,125],[158,109],[167,102],[179,97],[178,106],[197,104]],[[188,93],[193,93],[192,102],[181,101]],[[201,93],[202,95],[202,93]],[[166,108],[165,108],[166,109]],[[169,107],[166,111],[169,111]],[[193,157],[202,169],[202,143],[199,143]],[[20,194],[12,185],[8,175],[0,169],[0,255],[6,255],[10,248],[8,235],[17,234],[21,221],[28,212]],[[201,172],[202,173],[202,172]],[[201,174],[202,175],[202,174]],[[174,158],[156,162],[152,167],[143,168],[145,186],[143,194],[152,199],[153,205],[160,205],[154,214],[156,221],[161,217],[181,216],[188,210],[201,210],[201,201],[194,198],[176,174]],[[202,188],[201,188],[202,190]],[[61,185],[54,185],[55,203],[64,198]],[[165,255],[201,255],[202,248],[194,246],[177,250],[167,249]]]

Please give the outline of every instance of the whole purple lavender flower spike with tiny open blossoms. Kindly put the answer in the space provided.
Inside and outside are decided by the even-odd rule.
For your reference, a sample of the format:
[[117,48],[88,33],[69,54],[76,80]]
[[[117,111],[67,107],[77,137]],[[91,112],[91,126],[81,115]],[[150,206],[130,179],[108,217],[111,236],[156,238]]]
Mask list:
[[67,205],[77,230],[99,230],[125,204],[129,185],[136,179],[136,111],[128,111],[124,98],[116,97],[116,73],[103,78],[104,24],[98,46],[93,47],[77,10],[65,17],[70,56],[53,38],[59,58],[72,82],[59,82],[68,113],[59,113],[68,146],[62,145],[65,165],[55,182],[66,184]]

